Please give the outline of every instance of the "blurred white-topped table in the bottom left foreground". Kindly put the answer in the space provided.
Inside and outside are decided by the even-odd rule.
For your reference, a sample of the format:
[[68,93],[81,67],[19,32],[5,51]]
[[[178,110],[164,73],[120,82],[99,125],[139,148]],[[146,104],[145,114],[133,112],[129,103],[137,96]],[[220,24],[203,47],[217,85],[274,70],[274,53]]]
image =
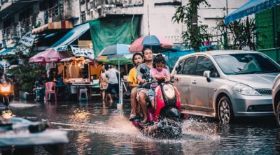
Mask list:
[[0,150],[2,154],[34,154],[34,146],[43,145],[50,154],[64,154],[64,144],[69,140],[66,131],[47,129],[39,133],[28,130],[6,131],[0,133]]

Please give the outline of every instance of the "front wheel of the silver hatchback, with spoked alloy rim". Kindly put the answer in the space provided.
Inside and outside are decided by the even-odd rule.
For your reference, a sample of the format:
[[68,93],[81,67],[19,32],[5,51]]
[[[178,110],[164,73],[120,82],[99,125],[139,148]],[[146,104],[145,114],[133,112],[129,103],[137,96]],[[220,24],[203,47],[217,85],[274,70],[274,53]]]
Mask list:
[[229,124],[232,122],[232,103],[230,102],[230,99],[226,96],[223,96],[218,102],[218,118],[223,124]]

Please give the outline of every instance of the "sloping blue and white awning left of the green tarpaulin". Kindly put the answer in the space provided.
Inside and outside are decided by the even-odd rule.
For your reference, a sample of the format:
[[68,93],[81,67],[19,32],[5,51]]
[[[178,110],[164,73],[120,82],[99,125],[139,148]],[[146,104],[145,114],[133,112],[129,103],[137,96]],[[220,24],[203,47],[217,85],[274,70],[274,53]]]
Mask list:
[[85,34],[85,32],[90,29],[90,24],[80,24],[77,27],[74,27],[69,31],[65,36],[63,36],[61,39],[57,41],[57,43],[54,43],[51,47],[59,47],[64,45],[71,44],[74,40]]

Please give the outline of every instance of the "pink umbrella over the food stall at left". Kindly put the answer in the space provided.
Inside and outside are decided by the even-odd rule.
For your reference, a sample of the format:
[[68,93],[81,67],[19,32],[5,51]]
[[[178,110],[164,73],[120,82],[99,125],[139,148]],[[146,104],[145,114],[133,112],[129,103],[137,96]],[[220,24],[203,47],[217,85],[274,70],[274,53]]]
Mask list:
[[48,49],[44,52],[38,53],[29,59],[30,63],[47,63],[47,62],[57,62],[66,57],[73,57],[73,54],[64,52],[60,54],[55,49]]

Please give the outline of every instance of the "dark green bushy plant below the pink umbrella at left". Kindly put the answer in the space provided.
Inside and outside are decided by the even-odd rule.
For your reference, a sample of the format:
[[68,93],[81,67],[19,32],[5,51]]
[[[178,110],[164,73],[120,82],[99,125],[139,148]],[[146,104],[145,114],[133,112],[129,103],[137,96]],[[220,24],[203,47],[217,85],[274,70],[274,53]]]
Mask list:
[[41,76],[45,67],[33,64],[22,64],[18,67],[9,69],[8,73],[15,75],[16,80],[22,91],[32,92],[36,78]]

